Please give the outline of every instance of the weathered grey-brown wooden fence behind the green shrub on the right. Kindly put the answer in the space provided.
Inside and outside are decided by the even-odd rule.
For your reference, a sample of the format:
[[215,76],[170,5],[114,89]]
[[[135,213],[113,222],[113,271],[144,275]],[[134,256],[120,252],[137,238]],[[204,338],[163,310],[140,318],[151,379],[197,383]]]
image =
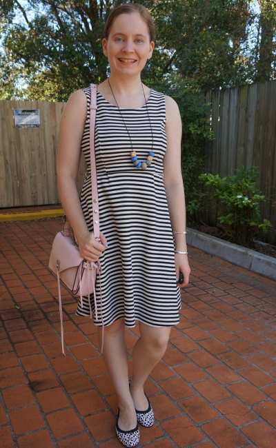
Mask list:
[[[270,219],[274,232],[263,241],[276,241],[276,81],[206,92],[207,116],[215,140],[206,145],[210,156],[206,172],[233,175],[244,165],[258,167],[257,186],[268,201],[262,217]],[[215,224],[215,216],[208,216]]]

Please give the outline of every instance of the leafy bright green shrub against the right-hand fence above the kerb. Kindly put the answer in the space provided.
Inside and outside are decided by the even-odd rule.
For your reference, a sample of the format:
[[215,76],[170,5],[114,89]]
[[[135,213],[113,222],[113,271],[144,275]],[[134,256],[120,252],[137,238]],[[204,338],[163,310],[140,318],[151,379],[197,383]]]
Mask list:
[[231,241],[252,247],[255,235],[259,229],[264,233],[268,227],[272,227],[268,219],[262,220],[260,205],[266,202],[256,187],[256,179],[259,177],[255,166],[250,170],[236,170],[235,176],[219,177],[218,174],[201,174],[199,180],[203,183],[203,191],[193,191],[187,205],[187,211],[197,216],[198,212],[217,210],[217,219],[224,227]]

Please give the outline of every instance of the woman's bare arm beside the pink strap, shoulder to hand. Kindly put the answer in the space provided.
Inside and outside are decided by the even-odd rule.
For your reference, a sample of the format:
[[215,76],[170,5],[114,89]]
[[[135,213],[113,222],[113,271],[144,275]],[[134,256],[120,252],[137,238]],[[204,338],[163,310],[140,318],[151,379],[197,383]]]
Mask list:
[[79,243],[79,253],[86,260],[95,261],[105,250],[106,238],[101,234],[101,244],[88,231],[76,186],[86,111],[86,94],[82,90],[77,90],[70,96],[61,116],[57,185],[63,210]]

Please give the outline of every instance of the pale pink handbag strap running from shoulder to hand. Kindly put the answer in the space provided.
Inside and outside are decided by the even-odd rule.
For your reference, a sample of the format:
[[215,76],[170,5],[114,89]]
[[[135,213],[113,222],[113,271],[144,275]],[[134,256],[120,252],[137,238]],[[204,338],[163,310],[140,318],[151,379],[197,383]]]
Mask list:
[[92,213],[94,236],[99,240],[99,198],[97,186],[97,171],[95,159],[95,123],[97,110],[97,85],[90,84],[90,169],[91,169],[91,187],[92,187]]

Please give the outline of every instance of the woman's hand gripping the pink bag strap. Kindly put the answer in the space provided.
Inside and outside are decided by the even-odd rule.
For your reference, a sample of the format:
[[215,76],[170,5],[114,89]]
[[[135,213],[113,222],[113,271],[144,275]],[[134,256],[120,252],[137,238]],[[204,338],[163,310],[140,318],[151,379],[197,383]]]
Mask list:
[[99,232],[101,242],[97,241],[92,232],[87,232],[79,238],[79,255],[86,261],[93,263],[106,250],[106,237]]

